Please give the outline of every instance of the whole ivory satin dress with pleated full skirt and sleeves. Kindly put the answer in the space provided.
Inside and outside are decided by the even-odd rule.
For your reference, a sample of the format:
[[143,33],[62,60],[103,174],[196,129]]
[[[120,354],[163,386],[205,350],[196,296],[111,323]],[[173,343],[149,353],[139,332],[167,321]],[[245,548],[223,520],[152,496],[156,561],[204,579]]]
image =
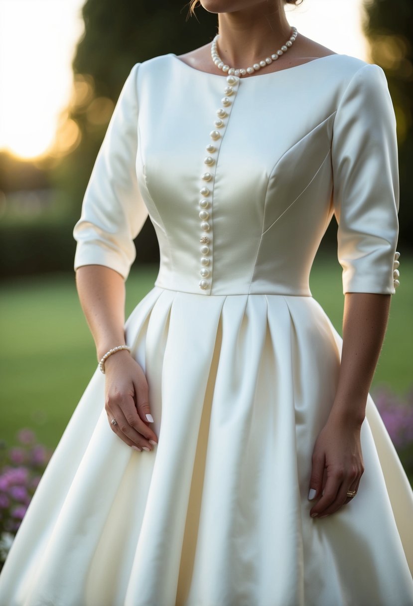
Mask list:
[[245,79],[173,53],[133,65],[75,268],[127,278],[150,216],[159,274],[125,334],[159,443],[139,453],[113,433],[96,368],[1,606],[413,604],[413,493],[370,396],[357,496],[324,519],[308,501],[342,344],[309,271],[335,213],[343,291],[394,293],[395,127],[382,68],[349,55]]

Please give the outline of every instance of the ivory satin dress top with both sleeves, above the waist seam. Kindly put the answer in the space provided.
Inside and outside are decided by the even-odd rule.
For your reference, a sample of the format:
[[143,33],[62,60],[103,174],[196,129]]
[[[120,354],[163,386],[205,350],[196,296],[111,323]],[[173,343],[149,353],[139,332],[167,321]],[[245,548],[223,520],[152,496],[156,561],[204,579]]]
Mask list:
[[125,82],[74,228],[75,267],[126,277],[149,215],[155,285],[310,296],[335,214],[343,291],[392,293],[397,210],[395,115],[378,65],[329,55],[239,78],[170,53]]

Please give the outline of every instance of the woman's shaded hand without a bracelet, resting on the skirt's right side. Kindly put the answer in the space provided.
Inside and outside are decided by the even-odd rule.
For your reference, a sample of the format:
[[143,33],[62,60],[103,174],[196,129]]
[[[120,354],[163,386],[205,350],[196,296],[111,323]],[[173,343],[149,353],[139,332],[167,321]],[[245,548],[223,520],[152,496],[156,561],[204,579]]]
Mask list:
[[339,510],[352,500],[347,491],[358,490],[364,472],[360,429],[361,424],[333,417],[320,431],[312,453],[309,499],[319,499],[310,510],[312,518]]

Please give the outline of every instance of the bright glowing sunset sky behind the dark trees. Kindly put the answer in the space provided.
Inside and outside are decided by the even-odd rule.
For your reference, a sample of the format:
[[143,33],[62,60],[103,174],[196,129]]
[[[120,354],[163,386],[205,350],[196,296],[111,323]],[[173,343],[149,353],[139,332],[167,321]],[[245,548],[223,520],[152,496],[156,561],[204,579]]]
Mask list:
[[[36,158],[53,143],[59,112],[71,95],[71,60],[83,32],[83,4],[0,0],[0,150]],[[286,14],[299,33],[366,61],[361,4],[305,0],[287,7]]]

